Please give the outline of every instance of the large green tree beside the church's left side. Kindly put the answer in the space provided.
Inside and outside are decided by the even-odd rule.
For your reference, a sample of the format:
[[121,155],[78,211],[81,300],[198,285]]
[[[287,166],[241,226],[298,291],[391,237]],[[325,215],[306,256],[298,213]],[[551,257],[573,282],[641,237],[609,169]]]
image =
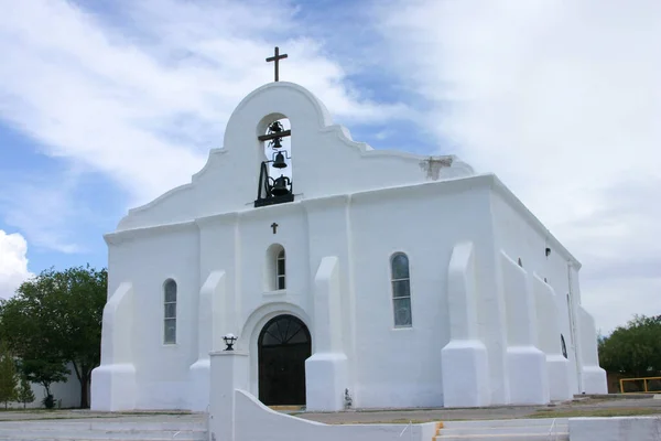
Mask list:
[[106,269],[48,269],[0,304],[0,336],[21,358],[28,379],[44,386],[46,398],[53,383],[66,380],[71,364],[80,383],[80,407],[88,407],[91,370],[100,361],[107,284]]

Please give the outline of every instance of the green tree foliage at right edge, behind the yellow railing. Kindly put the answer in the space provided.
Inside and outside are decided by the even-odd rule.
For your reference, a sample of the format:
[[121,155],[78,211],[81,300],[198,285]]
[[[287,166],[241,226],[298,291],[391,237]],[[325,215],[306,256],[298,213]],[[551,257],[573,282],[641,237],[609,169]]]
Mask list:
[[661,375],[661,315],[635,315],[626,326],[599,338],[599,364],[630,377]]

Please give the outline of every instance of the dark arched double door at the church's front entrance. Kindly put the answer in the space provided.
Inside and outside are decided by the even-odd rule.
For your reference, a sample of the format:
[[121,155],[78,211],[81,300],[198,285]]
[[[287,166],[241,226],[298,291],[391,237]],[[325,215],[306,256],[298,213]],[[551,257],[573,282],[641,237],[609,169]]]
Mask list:
[[279,315],[264,325],[257,344],[260,401],[304,406],[305,361],[312,355],[307,326],[293,315]]

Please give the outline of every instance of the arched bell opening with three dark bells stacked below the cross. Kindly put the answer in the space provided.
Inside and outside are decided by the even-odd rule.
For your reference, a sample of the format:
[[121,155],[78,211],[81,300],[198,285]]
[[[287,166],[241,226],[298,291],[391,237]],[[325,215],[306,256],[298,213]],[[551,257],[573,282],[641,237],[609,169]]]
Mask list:
[[266,133],[258,136],[264,160],[260,164],[256,207],[294,201],[291,136],[289,119],[278,116],[268,120]]

